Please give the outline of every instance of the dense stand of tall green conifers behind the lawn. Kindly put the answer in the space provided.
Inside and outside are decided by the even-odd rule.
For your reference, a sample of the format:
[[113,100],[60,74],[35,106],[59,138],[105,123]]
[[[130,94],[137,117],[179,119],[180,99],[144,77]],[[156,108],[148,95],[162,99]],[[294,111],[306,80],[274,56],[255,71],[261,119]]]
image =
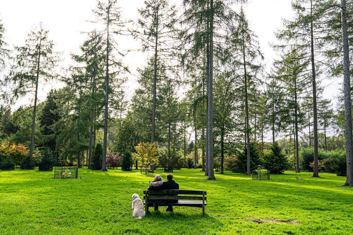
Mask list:
[[[0,21],[2,149],[25,146],[29,156],[50,153],[56,165],[91,168],[102,144],[102,158],[94,159],[105,171],[112,159],[151,142],[163,163],[153,167],[169,169],[185,159],[181,165],[200,167],[209,179],[225,167],[250,174],[281,153],[285,169],[346,175],[352,89],[345,93],[343,78],[348,73],[351,87],[353,2],[292,1],[294,17],[284,17],[275,32],[277,56],[266,68],[243,10],[246,1],[180,4],[145,1],[131,20],[121,17],[118,1],[97,1],[92,18],[103,27],[83,32],[86,39],[67,68],[59,66],[62,52],[44,24],[12,47]],[[125,59],[131,48],[122,37],[147,55],[134,86],[128,85]],[[342,84],[335,105],[323,95],[327,80]],[[64,86],[38,100],[38,91],[55,83]],[[19,105],[19,99],[30,103]]]

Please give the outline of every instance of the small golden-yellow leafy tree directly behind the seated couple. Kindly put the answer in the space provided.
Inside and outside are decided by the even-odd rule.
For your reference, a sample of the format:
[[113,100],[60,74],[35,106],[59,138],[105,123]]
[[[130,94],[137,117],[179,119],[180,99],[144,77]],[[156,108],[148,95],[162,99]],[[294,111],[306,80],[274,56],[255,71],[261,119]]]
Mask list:
[[145,173],[151,169],[152,164],[158,163],[156,143],[140,142],[135,146],[135,149],[137,153],[133,153],[132,157],[139,162],[139,165],[144,169]]

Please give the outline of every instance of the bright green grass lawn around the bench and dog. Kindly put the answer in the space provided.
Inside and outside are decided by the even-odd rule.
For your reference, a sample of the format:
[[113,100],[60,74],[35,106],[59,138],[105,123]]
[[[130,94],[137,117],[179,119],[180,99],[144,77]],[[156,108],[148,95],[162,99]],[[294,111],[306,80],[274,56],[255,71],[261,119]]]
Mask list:
[[[157,170],[164,180],[166,174]],[[205,180],[199,169],[174,171],[180,189],[207,190],[201,208],[175,207],[174,213],[132,217],[131,195],[154,175],[140,171],[79,169],[82,179],[52,179],[54,172],[0,172],[0,234],[352,234],[353,188],[340,187],[334,174],[285,172],[272,181],[242,174]],[[303,180],[295,179],[295,176]],[[287,223],[264,222],[274,219]],[[291,224],[298,223],[298,224]]]

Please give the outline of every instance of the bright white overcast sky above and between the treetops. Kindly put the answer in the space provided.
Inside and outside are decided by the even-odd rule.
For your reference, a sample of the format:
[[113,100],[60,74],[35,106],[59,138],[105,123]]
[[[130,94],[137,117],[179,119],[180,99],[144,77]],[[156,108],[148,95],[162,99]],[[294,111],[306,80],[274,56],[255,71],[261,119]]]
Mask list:
[[[122,17],[136,20],[137,8],[142,7],[143,0],[128,0],[121,2]],[[177,7],[181,6],[181,0],[172,0]],[[93,26],[86,20],[94,20],[92,9],[96,6],[95,0],[1,0],[0,18],[6,27],[5,42],[11,45],[21,46],[28,32],[34,25],[42,21],[44,28],[49,30],[49,38],[56,43],[55,50],[64,52],[64,61],[61,66],[67,68],[71,63],[70,53],[80,53],[79,46],[85,39],[82,31],[90,31]],[[251,0],[244,4],[244,11],[250,22],[250,29],[258,35],[258,40],[265,56],[267,70],[270,69],[272,58],[276,56],[269,43],[276,42],[274,31],[282,28],[282,18],[293,17],[291,0]],[[132,38],[126,38],[120,42],[123,49],[138,49],[139,44]],[[128,86],[136,87],[136,68],[143,68],[148,55],[140,52],[131,52],[124,60],[131,69]],[[0,75],[0,78],[3,74]],[[331,85],[329,85],[331,84]],[[332,98],[340,85],[337,81],[323,81],[325,98]],[[62,87],[62,84],[52,84],[40,92],[40,100],[44,100],[50,88]],[[24,101],[21,101],[24,102]],[[335,101],[333,100],[335,103]]]

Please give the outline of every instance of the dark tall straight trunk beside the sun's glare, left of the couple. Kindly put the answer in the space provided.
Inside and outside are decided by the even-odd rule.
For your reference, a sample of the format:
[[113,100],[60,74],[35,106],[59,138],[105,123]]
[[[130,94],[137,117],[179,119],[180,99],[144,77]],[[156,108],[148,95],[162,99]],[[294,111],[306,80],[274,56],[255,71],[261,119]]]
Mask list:
[[106,58],[106,104],[104,110],[104,135],[103,135],[103,160],[102,170],[107,171],[106,159],[107,159],[107,135],[108,135],[108,91],[109,91],[109,10],[108,10],[108,21],[107,21],[107,58]]

